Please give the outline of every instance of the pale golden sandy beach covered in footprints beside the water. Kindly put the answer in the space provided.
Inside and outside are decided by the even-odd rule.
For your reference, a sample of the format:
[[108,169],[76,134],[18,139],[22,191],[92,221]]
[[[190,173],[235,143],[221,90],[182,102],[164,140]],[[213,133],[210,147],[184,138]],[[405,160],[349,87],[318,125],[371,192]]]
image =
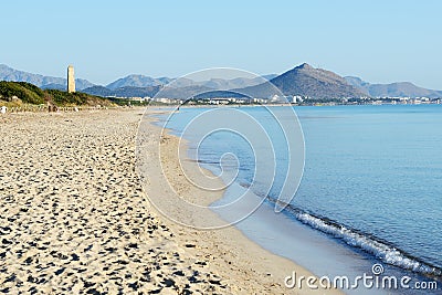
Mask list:
[[[287,289],[284,277],[293,271],[311,273],[235,228],[194,230],[159,212],[149,196],[162,196],[170,210],[192,217],[172,206],[164,175],[173,179],[172,191],[192,202],[208,204],[222,191],[201,196],[188,186],[176,158],[178,138],[160,137],[148,120],[136,154],[143,114],[0,116],[0,293],[336,293]],[[193,218],[218,219],[210,210]]]

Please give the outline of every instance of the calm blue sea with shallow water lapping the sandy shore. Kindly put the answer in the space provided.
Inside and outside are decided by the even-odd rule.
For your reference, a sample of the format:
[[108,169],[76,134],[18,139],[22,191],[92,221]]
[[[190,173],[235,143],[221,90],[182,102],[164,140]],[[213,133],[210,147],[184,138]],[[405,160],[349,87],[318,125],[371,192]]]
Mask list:
[[[347,294],[442,294],[442,105],[181,107],[157,124],[229,183],[213,211],[264,249],[348,277]],[[244,193],[262,203],[239,219]]]

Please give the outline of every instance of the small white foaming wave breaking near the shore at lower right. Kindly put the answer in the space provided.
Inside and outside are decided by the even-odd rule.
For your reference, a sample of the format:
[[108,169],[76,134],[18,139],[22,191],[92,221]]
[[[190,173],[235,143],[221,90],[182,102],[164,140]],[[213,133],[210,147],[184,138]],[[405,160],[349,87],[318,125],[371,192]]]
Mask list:
[[[270,200],[273,202],[275,201],[273,199]],[[388,242],[380,241],[380,239],[351,229],[349,226],[339,224],[336,221],[326,218],[315,217],[291,204],[288,204],[287,208],[296,217],[296,219],[304,224],[307,224],[311,228],[322,231],[324,233],[330,234],[336,239],[340,239],[350,246],[361,249],[362,251],[375,255],[377,259],[387,264],[391,264],[403,270],[442,280],[441,268],[430,265],[417,257],[413,257],[412,255],[404,253],[403,251],[397,249]]]

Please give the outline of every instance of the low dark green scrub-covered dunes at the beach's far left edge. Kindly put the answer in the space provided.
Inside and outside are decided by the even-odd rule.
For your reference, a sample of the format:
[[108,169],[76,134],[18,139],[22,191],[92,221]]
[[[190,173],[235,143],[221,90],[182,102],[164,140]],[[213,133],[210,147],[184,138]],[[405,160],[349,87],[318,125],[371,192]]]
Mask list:
[[56,106],[112,106],[107,98],[81,92],[67,93],[56,89],[41,89],[27,82],[0,81],[0,103],[10,106],[22,104],[41,105],[54,104]]

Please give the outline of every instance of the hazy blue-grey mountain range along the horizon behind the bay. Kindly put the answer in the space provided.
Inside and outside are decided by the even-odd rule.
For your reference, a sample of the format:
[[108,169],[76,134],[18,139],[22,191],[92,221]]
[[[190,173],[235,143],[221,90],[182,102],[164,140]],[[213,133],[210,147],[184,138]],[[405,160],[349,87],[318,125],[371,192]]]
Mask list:
[[[41,88],[65,89],[66,78],[43,76],[11,69],[0,64],[0,81],[29,82]],[[263,83],[264,81],[264,83]],[[271,83],[269,83],[270,81]],[[190,78],[150,77],[146,75],[128,75],[106,86],[94,85],[87,80],[76,78],[76,88],[87,94],[101,96],[155,96],[159,89],[161,95],[170,98],[188,98],[194,93],[213,91],[232,91],[252,97],[270,98],[278,91],[284,95],[301,95],[312,98],[341,97],[442,97],[442,91],[427,89],[410,82],[391,84],[370,84],[359,77],[341,77],[323,69],[315,69],[306,63],[281,75],[271,74],[262,77],[236,77],[231,80],[210,78],[192,81]],[[173,82],[172,86],[164,88]],[[278,91],[274,87],[276,86]]]

